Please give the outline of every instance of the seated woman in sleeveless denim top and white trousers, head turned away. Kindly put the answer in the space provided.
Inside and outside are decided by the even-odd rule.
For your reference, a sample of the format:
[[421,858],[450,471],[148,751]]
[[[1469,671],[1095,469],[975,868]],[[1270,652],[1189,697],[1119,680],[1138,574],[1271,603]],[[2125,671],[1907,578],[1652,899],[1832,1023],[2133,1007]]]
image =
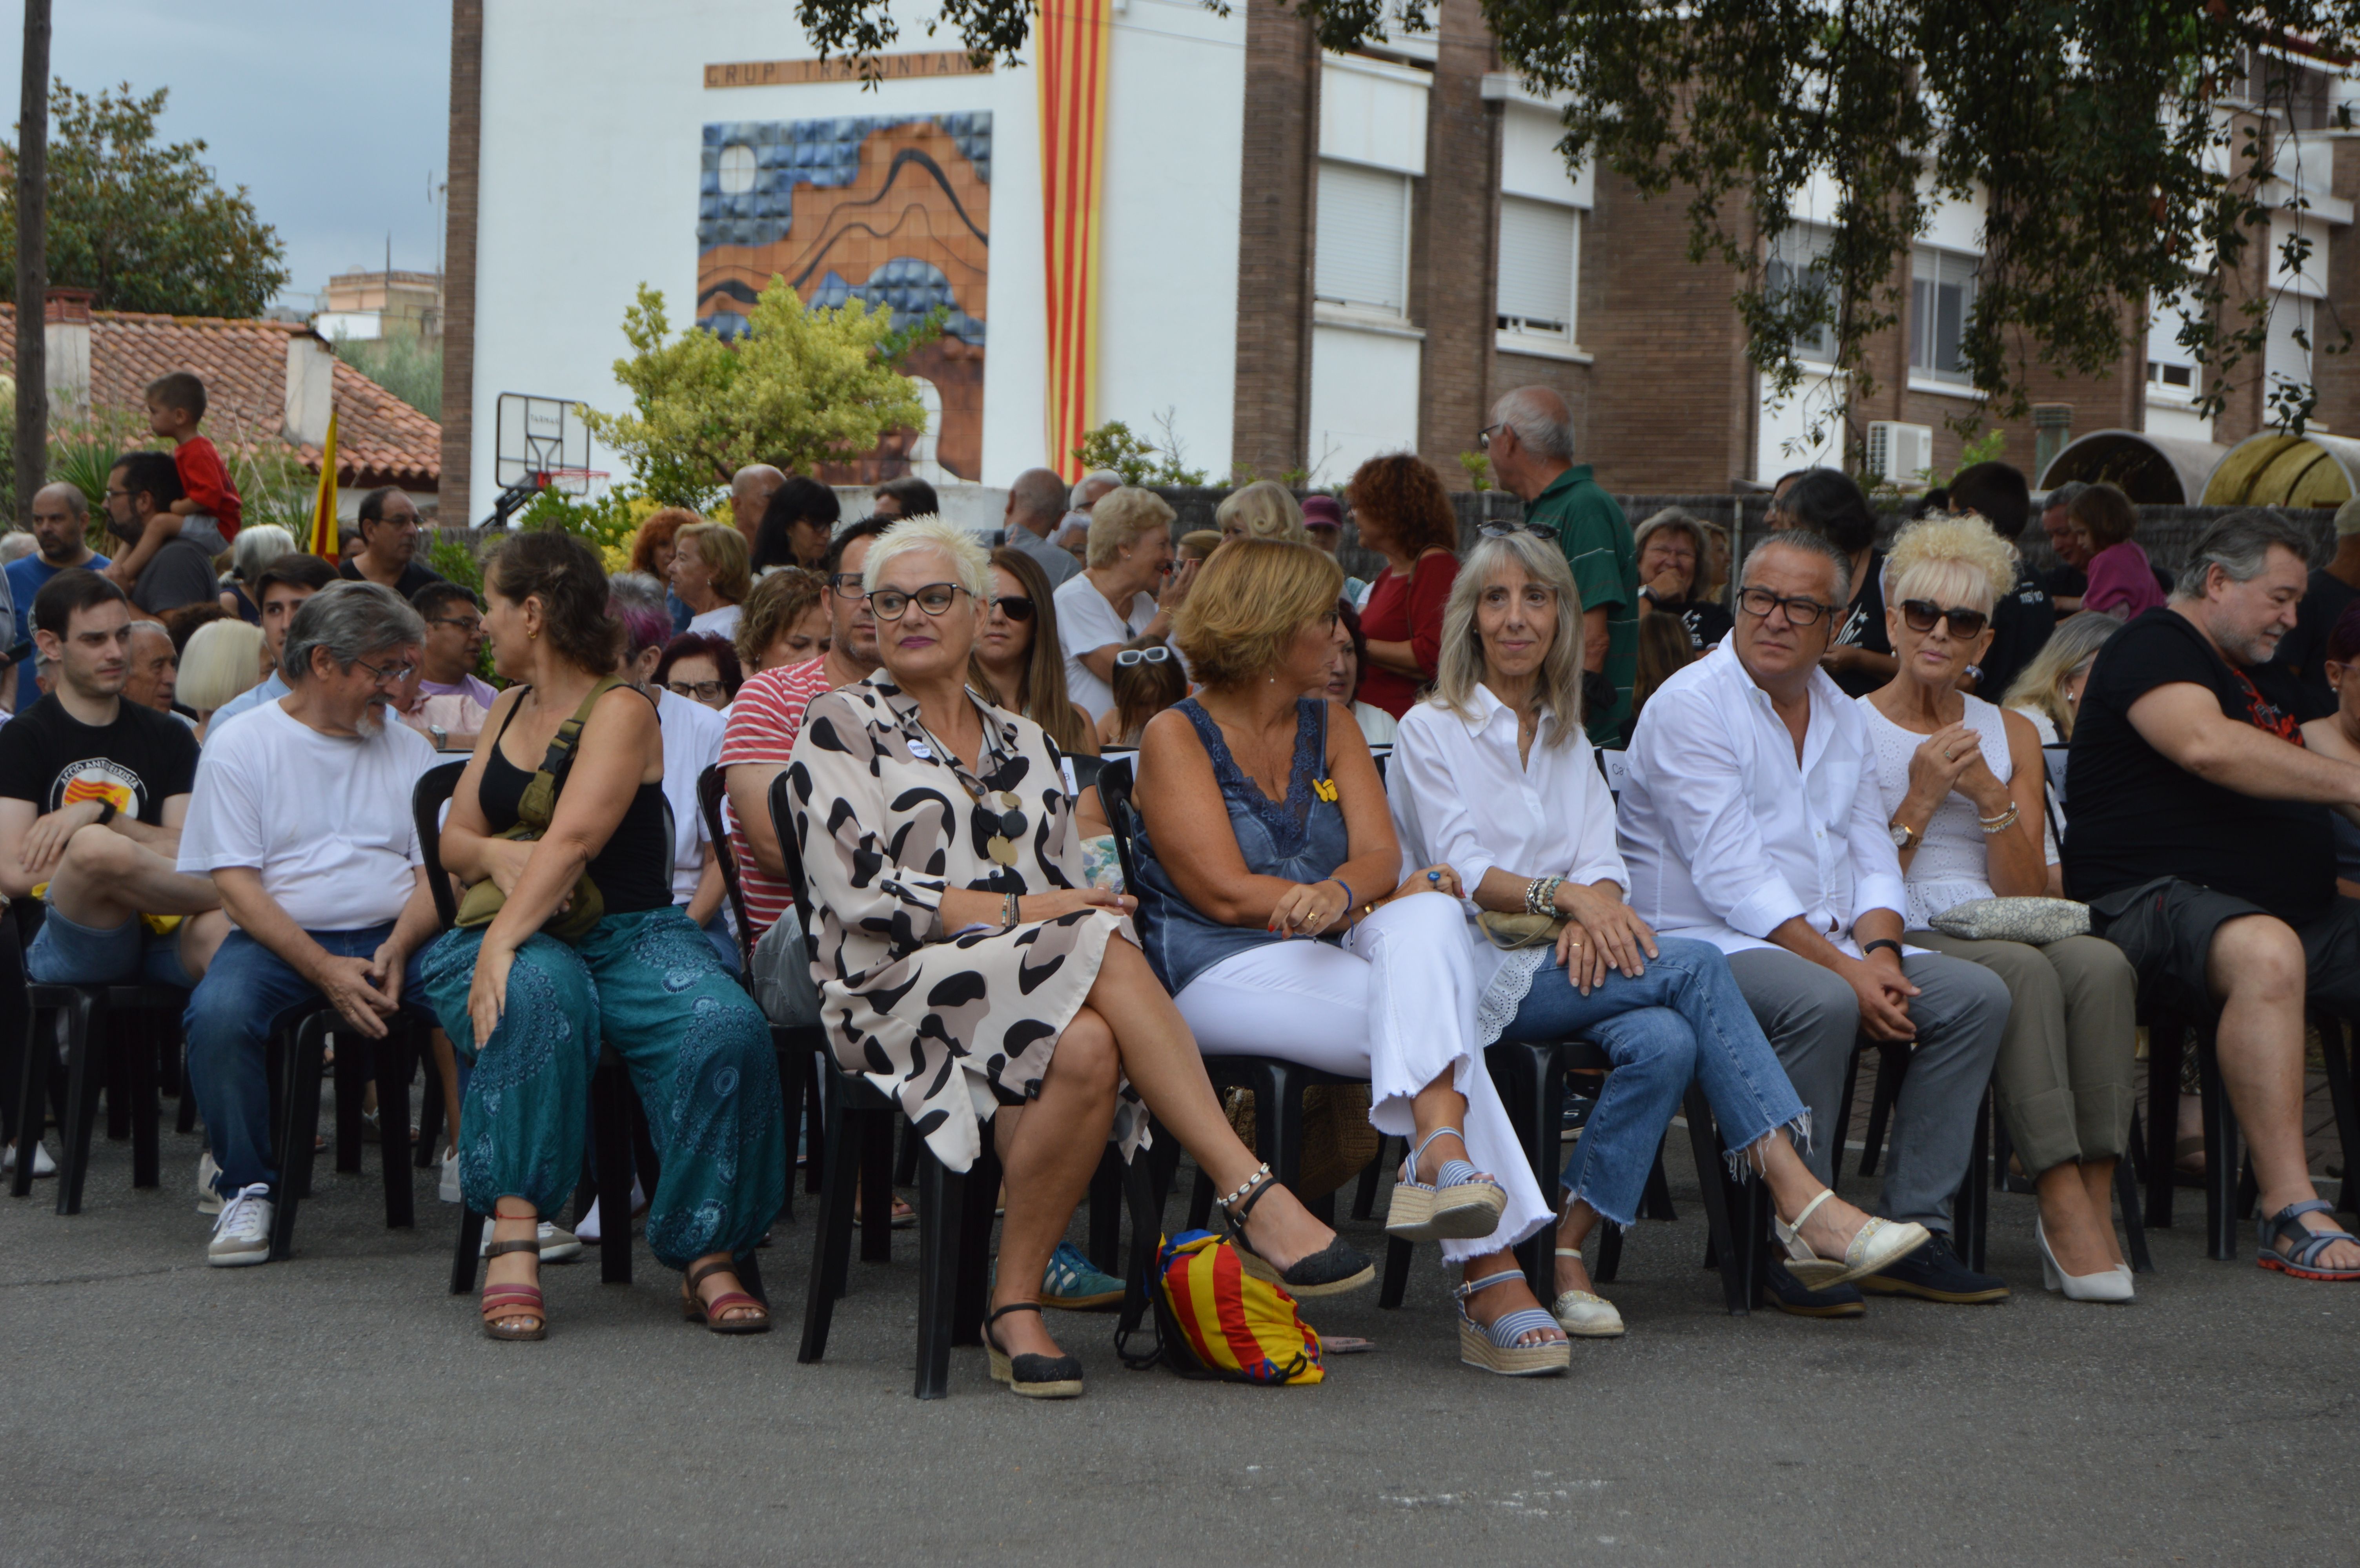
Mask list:
[[1359,724],[1303,696],[1326,681],[1340,592],[1317,545],[1230,540],[1206,561],[1178,632],[1201,689],[1140,738],[1140,938],[1206,1054],[1369,1080],[1369,1122],[1416,1141],[1385,1231],[1463,1271],[1461,1361],[1562,1372],[1565,1332],[1508,1257],[1551,1210],[1475,1042],[1458,877],[1402,875]]

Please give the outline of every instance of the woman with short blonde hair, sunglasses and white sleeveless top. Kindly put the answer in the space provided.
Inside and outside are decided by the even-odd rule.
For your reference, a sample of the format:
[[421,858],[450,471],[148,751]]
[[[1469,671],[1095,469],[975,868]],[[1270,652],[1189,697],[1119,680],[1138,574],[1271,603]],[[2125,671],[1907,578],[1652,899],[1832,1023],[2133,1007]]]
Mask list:
[[1886,634],[1900,670],[1860,705],[1900,849],[1907,941],[2008,983],[1992,1080],[2039,1188],[2044,1278],[2077,1302],[2129,1302],[2112,1221],[2115,1160],[2131,1129],[2129,960],[2096,936],[2034,948],[1933,929],[1961,903],[2053,894],[2058,884],[2039,733],[2025,714],[1959,691],[1959,677],[1992,646],[1992,606],[2015,587],[2015,549],[1980,519],[1933,519],[1902,531],[1886,580]]

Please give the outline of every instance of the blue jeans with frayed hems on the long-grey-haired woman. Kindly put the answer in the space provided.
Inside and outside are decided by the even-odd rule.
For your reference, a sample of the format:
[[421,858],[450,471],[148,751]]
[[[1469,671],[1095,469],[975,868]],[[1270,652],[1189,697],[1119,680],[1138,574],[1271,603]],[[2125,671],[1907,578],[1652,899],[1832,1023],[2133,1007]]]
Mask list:
[[1772,1127],[1810,1127],[1720,948],[1669,936],[1657,948],[1643,976],[1610,971],[1591,995],[1551,957],[1503,1030],[1508,1040],[1586,1035],[1614,1061],[1565,1162],[1565,1191],[1619,1226],[1638,1219],[1654,1151],[1690,1080],[1704,1085],[1732,1151],[1751,1148]]

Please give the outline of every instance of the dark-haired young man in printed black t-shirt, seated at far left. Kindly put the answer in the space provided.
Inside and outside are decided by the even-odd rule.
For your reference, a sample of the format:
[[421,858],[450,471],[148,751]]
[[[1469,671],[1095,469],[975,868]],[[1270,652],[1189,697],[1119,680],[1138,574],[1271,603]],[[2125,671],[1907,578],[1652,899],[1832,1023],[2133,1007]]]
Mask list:
[[66,986],[196,986],[229,920],[210,877],[175,870],[196,740],[123,700],[130,606],[73,568],[33,599],[57,686],[0,726],[0,894],[47,913],[26,974]]

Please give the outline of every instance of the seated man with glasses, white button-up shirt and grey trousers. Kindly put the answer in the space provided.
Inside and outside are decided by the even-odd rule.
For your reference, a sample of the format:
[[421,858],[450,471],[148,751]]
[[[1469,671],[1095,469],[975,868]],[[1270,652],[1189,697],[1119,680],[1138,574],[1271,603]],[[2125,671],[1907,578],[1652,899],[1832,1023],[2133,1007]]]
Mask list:
[[[1817,1125],[1805,1165],[1820,1181],[1843,1148],[1855,1040],[1909,1052],[1874,1212],[1933,1240],[1860,1287],[1997,1302],[2008,1287],[1952,1252],[1949,1207],[2008,988],[1980,964],[1902,948],[1909,905],[1869,724],[1820,667],[1848,601],[1850,561],[1812,533],[1777,533],[1746,556],[1737,627],[1647,698],[1631,738],[1617,804],[1631,908],[1661,936],[1730,955]],[[1801,1316],[1864,1311],[1850,1285],[1805,1290],[1779,1264],[1770,1290]]]

